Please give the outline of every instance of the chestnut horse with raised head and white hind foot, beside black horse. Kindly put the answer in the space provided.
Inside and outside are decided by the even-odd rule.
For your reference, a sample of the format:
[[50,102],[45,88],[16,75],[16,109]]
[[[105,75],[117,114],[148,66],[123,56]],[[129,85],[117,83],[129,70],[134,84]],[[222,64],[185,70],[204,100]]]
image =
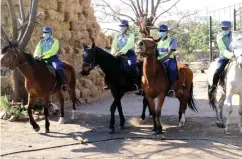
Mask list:
[[[169,81],[161,64],[156,60],[156,41],[144,38],[137,43],[136,54],[144,58],[142,88],[149,101],[153,115],[154,128],[152,133],[162,133],[160,124],[161,109],[168,92]],[[193,72],[185,64],[178,64],[179,80],[175,84],[176,97],[180,101],[179,126],[184,126],[187,105],[197,111],[193,99]],[[157,109],[154,99],[158,99]]]

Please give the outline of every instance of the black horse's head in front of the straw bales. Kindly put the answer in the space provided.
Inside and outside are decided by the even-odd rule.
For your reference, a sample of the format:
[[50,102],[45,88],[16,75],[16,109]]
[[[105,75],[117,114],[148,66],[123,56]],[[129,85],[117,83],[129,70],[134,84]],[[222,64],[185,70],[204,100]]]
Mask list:
[[84,45],[84,52],[82,55],[82,70],[81,74],[83,76],[89,75],[90,71],[97,65],[96,64],[96,53],[95,53],[95,43],[92,43],[92,46],[89,47]]

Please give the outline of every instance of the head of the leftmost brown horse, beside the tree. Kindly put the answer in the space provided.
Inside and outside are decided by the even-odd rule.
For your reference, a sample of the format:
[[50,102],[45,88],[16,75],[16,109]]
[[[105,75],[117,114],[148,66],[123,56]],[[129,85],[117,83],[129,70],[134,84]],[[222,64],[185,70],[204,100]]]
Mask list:
[[16,69],[21,64],[22,57],[22,53],[18,49],[17,44],[14,45],[9,43],[9,45],[1,49],[1,65],[11,70]]

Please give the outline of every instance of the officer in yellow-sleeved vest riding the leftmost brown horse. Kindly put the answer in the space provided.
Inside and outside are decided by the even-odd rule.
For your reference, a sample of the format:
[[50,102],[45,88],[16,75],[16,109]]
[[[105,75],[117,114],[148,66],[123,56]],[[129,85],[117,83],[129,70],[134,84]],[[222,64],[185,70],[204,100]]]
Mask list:
[[34,52],[34,57],[35,59],[43,60],[54,67],[60,78],[61,89],[66,91],[69,90],[69,88],[65,85],[63,63],[58,57],[59,49],[59,40],[53,38],[52,29],[50,27],[44,27],[43,39],[39,41]]

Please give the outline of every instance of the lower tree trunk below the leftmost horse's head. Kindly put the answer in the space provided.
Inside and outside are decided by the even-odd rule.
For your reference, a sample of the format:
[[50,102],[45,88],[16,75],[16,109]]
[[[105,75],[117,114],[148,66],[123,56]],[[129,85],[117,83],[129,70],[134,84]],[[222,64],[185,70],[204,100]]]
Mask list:
[[28,93],[24,87],[24,77],[18,69],[15,69],[11,72],[13,94],[12,99],[14,102],[23,101],[24,104],[27,103]]

